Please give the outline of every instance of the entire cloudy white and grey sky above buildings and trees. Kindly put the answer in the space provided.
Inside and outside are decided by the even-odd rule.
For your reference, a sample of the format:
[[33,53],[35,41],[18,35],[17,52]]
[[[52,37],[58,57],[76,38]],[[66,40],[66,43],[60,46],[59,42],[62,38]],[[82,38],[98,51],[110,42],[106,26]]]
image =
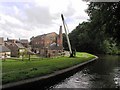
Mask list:
[[29,39],[59,32],[61,13],[72,31],[89,18],[82,0],[0,0],[0,37]]

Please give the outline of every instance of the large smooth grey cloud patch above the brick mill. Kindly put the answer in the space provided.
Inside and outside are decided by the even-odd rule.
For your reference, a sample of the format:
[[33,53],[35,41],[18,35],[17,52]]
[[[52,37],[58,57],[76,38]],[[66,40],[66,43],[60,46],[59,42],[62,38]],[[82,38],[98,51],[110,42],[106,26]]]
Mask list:
[[32,7],[25,10],[27,19],[26,22],[35,26],[48,26],[51,25],[54,19],[47,7]]

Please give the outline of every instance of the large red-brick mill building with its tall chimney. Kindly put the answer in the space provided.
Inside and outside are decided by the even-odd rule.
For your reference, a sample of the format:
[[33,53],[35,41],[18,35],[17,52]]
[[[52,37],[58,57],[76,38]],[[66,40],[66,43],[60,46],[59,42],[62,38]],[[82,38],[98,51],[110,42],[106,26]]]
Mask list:
[[31,49],[35,53],[43,56],[57,55],[63,50],[62,45],[62,26],[60,26],[59,35],[55,32],[32,37]]

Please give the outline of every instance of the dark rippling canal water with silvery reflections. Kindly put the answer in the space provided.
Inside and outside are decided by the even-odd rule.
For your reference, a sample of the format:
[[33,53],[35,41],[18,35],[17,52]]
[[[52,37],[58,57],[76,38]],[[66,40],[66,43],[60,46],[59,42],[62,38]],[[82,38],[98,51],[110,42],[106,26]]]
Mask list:
[[119,88],[120,56],[100,56],[74,75],[50,86],[54,88]]

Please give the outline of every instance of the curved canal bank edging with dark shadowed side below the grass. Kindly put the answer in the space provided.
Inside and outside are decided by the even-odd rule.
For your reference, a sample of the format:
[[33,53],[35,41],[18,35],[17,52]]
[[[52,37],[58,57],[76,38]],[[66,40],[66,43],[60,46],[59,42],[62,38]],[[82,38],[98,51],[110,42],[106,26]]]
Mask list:
[[[32,79],[27,79],[27,80],[22,80],[14,83],[8,83],[4,84],[2,86],[3,89],[16,89],[16,88],[45,88],[43,86],[49,87],[52,84],[55,83],[56,81],[60,81],[62,78],[66,78],[70,75],[73,74],[73,72],[77,72],[78,70],[82,69],[84,66],[87,64],[90,64],[91,62],[95,61],[98,57],[96,56],[94,59],[88,60],[86,62],[83,62],[81,64],[78,64],[76,66],[55,71],[52,74],[37,77],[37,78],[32,78]],[[49,85],[48,85],[49,84]]]

